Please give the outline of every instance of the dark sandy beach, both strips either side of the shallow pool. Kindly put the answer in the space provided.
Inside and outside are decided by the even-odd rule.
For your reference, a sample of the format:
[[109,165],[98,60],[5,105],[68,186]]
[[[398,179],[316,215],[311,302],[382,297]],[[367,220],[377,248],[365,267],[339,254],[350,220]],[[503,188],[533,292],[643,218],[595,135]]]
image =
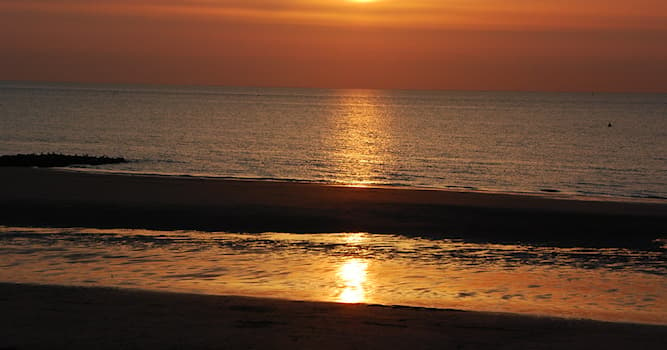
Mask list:
[[[660,201],[33,168],[5,168],[0,183],[7,226],[371,232],[649,250],[667,228]],[[667,335],[661,325],[575,318],[27,283],[0,284],[2,349],[657,349]]]

